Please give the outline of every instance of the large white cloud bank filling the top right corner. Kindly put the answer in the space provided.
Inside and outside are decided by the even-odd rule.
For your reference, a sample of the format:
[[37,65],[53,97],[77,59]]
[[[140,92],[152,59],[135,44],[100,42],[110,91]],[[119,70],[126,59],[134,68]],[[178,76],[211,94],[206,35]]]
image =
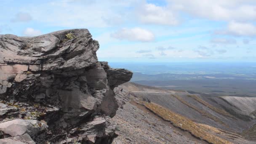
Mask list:
[[256,20],[255,0],[168,0],[176,11],[212,20]]

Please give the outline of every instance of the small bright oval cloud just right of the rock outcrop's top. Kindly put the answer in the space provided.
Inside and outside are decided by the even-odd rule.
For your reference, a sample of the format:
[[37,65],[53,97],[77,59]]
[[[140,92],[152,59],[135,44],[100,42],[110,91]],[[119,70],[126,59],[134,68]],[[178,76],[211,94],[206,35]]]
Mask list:
[[115,33],[111,34],[119,40],[130,40],[130,41],[141,41],[149,42],[155,40],[155,35],[147,29],[142,29],[140,27],[135,27],[131,29],[123,28]]

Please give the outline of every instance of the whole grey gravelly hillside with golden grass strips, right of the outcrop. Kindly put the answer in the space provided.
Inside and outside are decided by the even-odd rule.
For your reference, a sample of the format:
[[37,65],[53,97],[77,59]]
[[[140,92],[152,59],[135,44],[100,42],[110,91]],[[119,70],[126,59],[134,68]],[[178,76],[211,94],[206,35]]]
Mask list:
[[[119,97],[117,99],[122,108],[117,110],[117,114],[112,120],[117,125],[119,124],[118,133],[120,133],[120,136],[115,138],[113,143],[149,143],[150,141],[154,141],[152,142],[154,144],[255,143],[253,141],[254,137],[251,136],[254,133],[252,126],[255,120],[253,116],[242,115],[243,111],[236,111],[235,115],[233,112],[225,111],[221,107],[223,100],[218,97],[215,97],[214,99],[217,100],[213,102],[212,97],[202,99],[199,95],[197,97],[187,96],[189,93],[184,91],[169,91],[130,82],[118,88],[123,89],[123,91],[120,91],[121,93],[119,92],[116,95],[116,97]],[[224,99],[227,99],[227,97],[224,97]],[[143,100],[151,101],[151,103],[144,104]],[[230,106],[233,109],[234,107],[238,109],[239,107],[241,109],[246,107],[243,106],[244,103],[237,104],[237,99],[230,101],[230,104],[227,104],[228,101],[224,102],[226,102],[226,104],[223,104],[224,107],[229,107],[230,104],[234,104]],[[248,103],[251,104],[251,101],[248,101]],[[157,114],[155,108],[149,111],[152,105],[162,107],[162,109],[167,108],[167,110]],[[152,111],[156,113],[152,113]],[[170,119],[166,117],[168,115],[171,115]],[[244,117],[250,117],[250,120],[244,119]],[[173,125],[176,125],[176,127]],[[186,131],[189,131],[189,133],[186,133]],[[242,133],[243,131],[244,133]],[[244,134],[250,135],[250,139]]]

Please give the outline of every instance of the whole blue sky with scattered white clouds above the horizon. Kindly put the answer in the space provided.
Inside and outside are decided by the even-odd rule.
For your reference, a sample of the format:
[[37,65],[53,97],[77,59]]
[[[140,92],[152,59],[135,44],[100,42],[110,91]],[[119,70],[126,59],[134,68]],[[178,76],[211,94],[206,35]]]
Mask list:
[[0,0],[0,34],[86,28],[99,61],[256,62],[256,0]]

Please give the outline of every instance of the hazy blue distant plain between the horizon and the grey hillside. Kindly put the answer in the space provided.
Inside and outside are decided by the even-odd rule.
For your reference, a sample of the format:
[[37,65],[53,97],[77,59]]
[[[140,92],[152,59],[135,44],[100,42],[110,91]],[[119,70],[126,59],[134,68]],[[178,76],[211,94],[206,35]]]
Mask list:
[[110,63],[134,72],[132,82],[210,96],[256,96],[256,63]]

